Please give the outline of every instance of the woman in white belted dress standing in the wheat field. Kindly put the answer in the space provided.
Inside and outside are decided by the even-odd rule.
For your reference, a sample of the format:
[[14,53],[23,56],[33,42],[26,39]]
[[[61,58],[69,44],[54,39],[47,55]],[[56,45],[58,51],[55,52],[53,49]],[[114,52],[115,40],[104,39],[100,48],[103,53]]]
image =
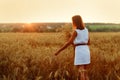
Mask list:
[[85,27],[81,16],[75,15],[72,17],[73,34],[70,39],[55,53],[58,55],[62,50],[67,48],[70,44],[74,44],[75,57],[74,65],[77,66],[80,75],[80,80],[89,80],[86,72],[86,66],[90,64],[90,50],[89,50],[89,32]]

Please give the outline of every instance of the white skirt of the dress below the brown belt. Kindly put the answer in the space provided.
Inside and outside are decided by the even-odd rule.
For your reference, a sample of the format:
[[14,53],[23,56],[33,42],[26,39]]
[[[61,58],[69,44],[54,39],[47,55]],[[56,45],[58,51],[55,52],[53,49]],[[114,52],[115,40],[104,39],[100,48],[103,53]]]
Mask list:
[[90,50],[88,45],[75,47],[74,65],[90,64]]

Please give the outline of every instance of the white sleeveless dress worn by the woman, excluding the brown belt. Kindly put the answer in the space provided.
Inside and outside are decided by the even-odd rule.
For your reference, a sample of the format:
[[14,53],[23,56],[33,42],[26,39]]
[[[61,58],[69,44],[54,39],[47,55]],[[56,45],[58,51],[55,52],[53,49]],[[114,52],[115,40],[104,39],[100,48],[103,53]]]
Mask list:
[[[89,34],[88,29],[76,29],[77,36],[74,44],[88,43]],[[90,63],[90,50],[88,45],[79,45],[75,47],[74,65],[85,65]]]

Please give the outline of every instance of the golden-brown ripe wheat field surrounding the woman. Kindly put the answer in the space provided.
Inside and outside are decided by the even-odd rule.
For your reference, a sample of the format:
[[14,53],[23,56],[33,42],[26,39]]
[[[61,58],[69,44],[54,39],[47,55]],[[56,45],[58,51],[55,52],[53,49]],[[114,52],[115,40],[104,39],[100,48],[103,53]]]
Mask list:
[[[0,80],[77,80],[66,33],[0,33]],[[120,32],[90,33],[90,80],[120,80]]]

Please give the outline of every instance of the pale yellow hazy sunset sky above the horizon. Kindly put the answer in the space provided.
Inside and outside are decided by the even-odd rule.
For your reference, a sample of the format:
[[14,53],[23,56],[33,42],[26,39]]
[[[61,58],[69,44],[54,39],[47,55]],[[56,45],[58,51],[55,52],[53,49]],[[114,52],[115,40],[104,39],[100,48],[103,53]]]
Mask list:
[[0,0],[0,23],[84,22],[120,23],[120,0]]

